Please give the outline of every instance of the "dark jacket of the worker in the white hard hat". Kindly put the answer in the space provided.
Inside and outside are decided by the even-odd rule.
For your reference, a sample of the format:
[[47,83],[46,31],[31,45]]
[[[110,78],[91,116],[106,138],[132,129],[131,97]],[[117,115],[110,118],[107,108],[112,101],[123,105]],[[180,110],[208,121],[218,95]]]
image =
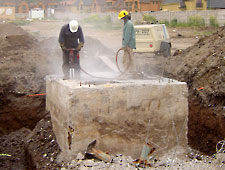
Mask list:
[[60,44],[63,43],[66,48],[77,48],[79,42],[84,43],[81,27],[79,26],[77,32],[72,33],[69,24],[64,25],[61,28],[58,41]]

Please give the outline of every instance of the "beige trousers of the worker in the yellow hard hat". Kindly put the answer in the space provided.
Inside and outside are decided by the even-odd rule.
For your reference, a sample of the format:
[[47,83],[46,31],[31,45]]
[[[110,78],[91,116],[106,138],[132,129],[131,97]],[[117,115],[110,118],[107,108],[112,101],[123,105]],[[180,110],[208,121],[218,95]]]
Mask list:
[[123,55],[123,65],[124,69],[128,67],[127,72],[133,73],[136,72],[136,64],[135,64],[135,58],[133,54],[133,49],[130,47],[126,47],[126,50],[124,50]]

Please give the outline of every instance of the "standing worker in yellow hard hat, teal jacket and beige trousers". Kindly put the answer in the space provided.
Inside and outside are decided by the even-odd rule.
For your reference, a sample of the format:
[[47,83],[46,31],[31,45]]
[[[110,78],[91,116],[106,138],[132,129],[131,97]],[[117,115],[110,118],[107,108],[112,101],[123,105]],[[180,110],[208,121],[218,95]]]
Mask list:
[[128,11],[122,10],[119,12],[118,19],[124,21],[122,38],[122,47],[124,50],[123,65],[127,68],[127,65],[130,63],[128,72],[136,72],[135,58],[133,55],[133,49],[136,49],[136,39],[131,16]]

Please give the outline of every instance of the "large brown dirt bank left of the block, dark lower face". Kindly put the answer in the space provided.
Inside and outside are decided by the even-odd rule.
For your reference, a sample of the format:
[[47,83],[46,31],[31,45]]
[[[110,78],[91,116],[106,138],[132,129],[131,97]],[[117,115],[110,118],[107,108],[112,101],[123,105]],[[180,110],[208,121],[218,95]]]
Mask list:
[[[4,24],[14,33],[21,28]],[[0,135],[22,127],[33,128],[45,114],[46,59],[37,40],[28,34],[0,37]],[[9,123],[10,122],[10,123]]]

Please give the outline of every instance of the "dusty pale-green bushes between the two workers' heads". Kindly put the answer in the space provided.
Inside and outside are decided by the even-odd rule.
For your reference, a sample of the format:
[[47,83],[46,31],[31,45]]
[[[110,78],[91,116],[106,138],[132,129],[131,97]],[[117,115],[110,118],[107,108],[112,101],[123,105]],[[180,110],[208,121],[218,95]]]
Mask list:
[[100,17],[99,15],[91,15],[80,22],[92,24],[94,27],[99,29],[121,29],[121,25],[112,24],[111,17],[109,15],[103,17]]

